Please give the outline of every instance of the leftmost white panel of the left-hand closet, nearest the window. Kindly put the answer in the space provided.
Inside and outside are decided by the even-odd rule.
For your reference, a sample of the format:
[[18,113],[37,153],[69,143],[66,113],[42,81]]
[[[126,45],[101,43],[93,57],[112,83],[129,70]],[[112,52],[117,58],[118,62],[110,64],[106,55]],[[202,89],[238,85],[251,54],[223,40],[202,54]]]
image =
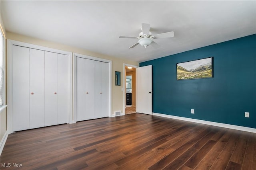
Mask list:
[[13,45],[12,128],[29,129],[29,48]]

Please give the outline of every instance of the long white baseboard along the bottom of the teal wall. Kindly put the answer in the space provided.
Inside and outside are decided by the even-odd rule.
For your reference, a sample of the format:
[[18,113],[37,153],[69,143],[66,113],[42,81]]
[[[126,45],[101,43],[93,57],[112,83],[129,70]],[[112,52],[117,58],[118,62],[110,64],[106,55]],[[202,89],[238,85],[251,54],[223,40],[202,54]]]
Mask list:
[[195,122],[195,123],[202,123],[202,124],[218,126],[218,127],[225,127],[225,128],[236,129],[236,130],[240,130],[240,131],[256,133],[256,129],[251,128],[251,127],[230,125],[230,124],[225,124],[225,123],[217,123],[217,122],[213,122],[213,121],[204,121],[204,120],[199,120],[199,119],[191,119],[191,118],[187,118],[187,117],[179,117],[179,116],[173,116],[173,115],[166,115],[166,114],[162,114],[162,113],[152,113],[152,115],[161,116],[161,117],[167,117],[167,118],[171,118],[171,119],[191,121],[191,122]]

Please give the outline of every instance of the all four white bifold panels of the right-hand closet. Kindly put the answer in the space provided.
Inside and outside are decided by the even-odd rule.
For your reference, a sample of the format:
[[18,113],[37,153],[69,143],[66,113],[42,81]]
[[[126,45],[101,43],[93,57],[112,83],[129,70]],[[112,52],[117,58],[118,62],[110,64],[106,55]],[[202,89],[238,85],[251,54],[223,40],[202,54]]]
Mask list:
[[76,57],[76,121],[108,117],[108,63]]

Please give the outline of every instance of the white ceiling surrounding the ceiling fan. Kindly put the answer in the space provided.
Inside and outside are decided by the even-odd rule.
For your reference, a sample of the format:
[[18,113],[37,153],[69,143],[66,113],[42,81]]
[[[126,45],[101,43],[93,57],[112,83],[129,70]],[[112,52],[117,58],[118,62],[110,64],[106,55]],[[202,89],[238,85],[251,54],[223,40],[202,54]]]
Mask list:
[[[256,1],[2,1],[6,31],[142,62],[256,33]],[[160,48],[137,45],[141,23]]]

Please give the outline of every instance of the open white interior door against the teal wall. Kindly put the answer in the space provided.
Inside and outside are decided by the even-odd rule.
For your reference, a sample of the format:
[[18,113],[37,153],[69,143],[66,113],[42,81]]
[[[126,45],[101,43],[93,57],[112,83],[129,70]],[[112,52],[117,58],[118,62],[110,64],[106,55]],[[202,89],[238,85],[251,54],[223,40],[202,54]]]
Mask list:
[[152,65],[138,67],[137,112],[152,115]]

